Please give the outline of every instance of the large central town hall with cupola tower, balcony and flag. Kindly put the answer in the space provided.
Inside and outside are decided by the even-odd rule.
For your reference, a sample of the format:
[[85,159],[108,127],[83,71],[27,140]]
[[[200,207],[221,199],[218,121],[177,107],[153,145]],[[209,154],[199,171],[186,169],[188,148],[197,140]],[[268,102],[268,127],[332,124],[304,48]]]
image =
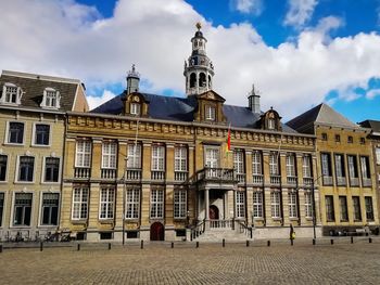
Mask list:
[[246,106],[225,104],[200,26],[191,43],[187,98],[141,92],[134,66],[124,93],[67,113],[61,228],[88,241],[320,235],[315,135],[261,112],[254,88]]

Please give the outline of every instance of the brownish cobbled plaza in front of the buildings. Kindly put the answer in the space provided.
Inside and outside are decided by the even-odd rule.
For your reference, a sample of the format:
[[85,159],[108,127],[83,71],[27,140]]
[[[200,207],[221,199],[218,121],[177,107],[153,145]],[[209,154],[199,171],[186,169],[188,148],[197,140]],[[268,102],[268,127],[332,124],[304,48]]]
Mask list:
[[1,284],[380,284],[380,241],[81,244],[0,254]]

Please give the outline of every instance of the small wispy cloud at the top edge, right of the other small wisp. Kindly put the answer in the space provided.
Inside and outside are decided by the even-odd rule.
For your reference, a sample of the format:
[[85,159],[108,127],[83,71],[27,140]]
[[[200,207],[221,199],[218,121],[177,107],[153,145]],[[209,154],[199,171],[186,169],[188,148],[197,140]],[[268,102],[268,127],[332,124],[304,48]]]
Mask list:
[[302,27],[313,16],[318,0],[288,0],[289,10],[283,21],[287,26]]

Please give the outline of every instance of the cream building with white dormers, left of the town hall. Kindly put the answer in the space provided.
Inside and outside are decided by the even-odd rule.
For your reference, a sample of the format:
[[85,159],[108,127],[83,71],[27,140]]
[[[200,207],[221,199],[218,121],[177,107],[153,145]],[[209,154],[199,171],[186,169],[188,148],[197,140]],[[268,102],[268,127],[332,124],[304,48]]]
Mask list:
[[66,111],[88,111],[79,80],[2,72],[0,239],[58,228]]

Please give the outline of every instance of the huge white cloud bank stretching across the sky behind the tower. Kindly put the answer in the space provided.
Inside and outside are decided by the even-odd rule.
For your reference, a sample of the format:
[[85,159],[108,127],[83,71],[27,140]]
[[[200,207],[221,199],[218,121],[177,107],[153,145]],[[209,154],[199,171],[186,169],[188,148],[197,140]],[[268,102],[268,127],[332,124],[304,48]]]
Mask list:
[[[214,27],[181,0],[119,0],[110,18],[68,0],[1,1],[0,9],[8,11],[0,17],[1,69],[79,78],[94,95],[125,85],[132,63],[149,82],[142,91],[185,92],[183,60],[198,21],[215,66],[215,91],[227,104],[246,106],[255,83],[262,108],[273,105],[286,120],[324,101],[330,90],[380,77],[380,36],[362,33],[326,41],[326,33],[340,25],[333,18],[273,48],[251,25]],[[89,98],[91,107],[113,96],[109,91],[98,95],[98,101]]]

